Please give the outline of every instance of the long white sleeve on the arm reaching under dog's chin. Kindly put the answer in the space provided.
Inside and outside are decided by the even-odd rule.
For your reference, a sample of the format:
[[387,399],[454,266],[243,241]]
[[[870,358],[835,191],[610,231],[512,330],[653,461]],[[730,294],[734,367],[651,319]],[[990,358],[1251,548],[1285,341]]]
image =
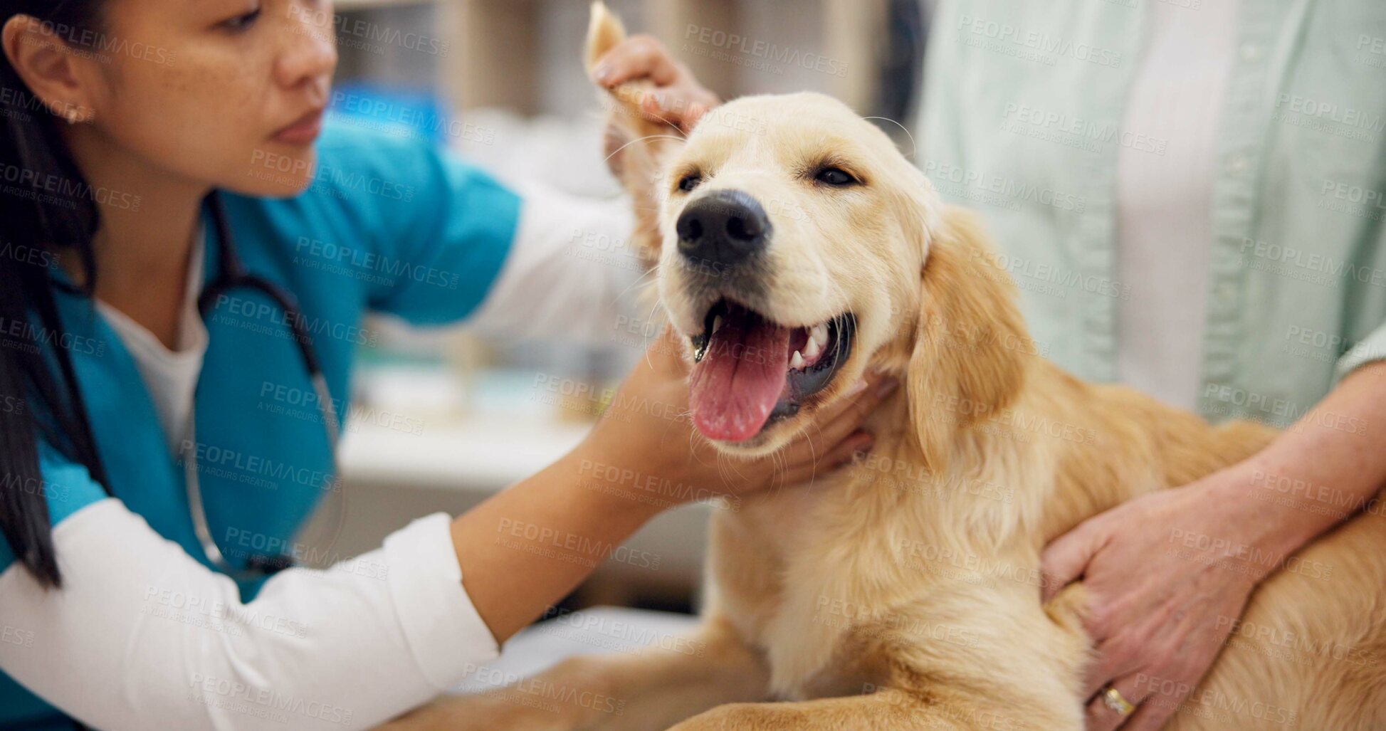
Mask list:
[[[83,470],[85,473],[85,470]],[[498,656],[444,513],[327,570],[234,583],[107,498],[53,530],[64,584],[0,573],[0,669],[96,728],[369,728]]]

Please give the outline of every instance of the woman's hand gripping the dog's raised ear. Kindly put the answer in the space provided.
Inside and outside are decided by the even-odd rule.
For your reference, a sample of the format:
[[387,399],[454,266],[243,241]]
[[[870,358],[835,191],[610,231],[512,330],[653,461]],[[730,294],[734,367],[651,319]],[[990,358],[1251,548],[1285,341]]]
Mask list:
[[651,122],[668,122],[683,133],[692,132],[699,118],[721,104],[693,78],[693,72],[669,55],[668,49],[651,36],[631,36],[597,60],[592,80],[606,89],[649,79],[654,92],[640,100],[640,114]]

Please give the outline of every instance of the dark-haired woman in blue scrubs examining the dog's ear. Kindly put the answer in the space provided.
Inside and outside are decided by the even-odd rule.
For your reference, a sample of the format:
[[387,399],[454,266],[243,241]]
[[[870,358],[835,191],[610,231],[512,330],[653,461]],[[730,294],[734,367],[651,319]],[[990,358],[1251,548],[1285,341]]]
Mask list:
[[[582,465],[746,494],[869,447],[876,388],[729,481],[667,416],[686,384],[658,343],[534,477],[333,570],[269,576],[284,556],[263,547],[333,490],[365,311],[599,323],[620,290],[559,246],[625,232],[423,144],[319,137],[326,3],[0,8],[0,725],[370,727],[570,591],[588,562],[556,551],[604,555],[657,510],[629,480],[578,488]],[[649,49],[613,53],[681,80]],[[279,413],[266,394],[284,393],[312,418]]]

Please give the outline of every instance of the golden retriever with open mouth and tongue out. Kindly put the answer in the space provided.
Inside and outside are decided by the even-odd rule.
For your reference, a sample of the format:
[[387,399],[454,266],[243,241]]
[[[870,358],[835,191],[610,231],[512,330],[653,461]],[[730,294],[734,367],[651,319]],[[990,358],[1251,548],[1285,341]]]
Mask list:
[[[596,6],[589,64],[622,37]],[[869,456],[714,510],[699,652],[571,659],[527,681],[618,712],[502,689],[401,727],[1082,728],[1084,588],[1042,603],[1042,548],[1275,431],[1210,426],[1041,358],[977,218],[845,105],[746,97],[685,140],[635,114],[640,93],[614,93],[617,168],[686,343],[699,431],[729,459],[764,455],[868,368],[902,388],[870,418]],[[1322,537],[1297,560],[1315,565],[1332,580],[1282,569],[1256,590],[1242,626],[1274,631],[1234,633],[1170,728],[1386,728],[1386,520]],[[1318,649],[1289,660],[1286,635]]]

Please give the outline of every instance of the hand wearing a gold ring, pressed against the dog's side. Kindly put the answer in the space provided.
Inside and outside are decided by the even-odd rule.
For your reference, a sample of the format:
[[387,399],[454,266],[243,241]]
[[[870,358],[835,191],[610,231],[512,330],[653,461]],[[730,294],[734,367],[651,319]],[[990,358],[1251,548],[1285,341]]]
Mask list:
[[[1045,549],[1045,601],[1081,577],[1084,626],[1098,649],[1085,677],[1088,731],[1152,731],[1198,687],[1256,583],[1252,556],[1299,548],[1247,499],[1246,463],[1100,513]],[[1250,504],[1250,505],[1249,505]],[[1094,696],[1112,685],[1137,710],[1123,719]],[[1124,725],[1123,725],[1124,721]]]

